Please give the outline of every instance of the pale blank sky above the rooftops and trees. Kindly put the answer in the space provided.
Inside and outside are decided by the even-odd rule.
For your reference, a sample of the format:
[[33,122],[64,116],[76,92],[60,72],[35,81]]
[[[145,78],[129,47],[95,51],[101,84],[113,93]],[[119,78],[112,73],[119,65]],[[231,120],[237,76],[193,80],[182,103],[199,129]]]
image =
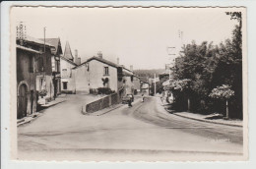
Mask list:
[[13,7],[11,28],[25,22],[28,35],[42,38],[46,27],[46,38],[60,37],[63,52],[69,41],[82,62],[101,51],[104,59],[116,63],[118,57],[127,68],[164,69],[182,44],[219,44],[230,38],[237,22],[226,11],[230,9]]

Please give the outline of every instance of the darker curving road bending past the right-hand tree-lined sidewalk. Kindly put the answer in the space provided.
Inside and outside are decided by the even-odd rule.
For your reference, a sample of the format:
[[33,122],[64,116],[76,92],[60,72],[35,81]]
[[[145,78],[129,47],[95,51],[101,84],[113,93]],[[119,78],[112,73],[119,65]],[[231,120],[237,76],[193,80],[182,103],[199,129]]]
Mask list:
[[205,137],[213,141],[230,141],[243,143],[243,130],[240,127],[230,127],[207,122],[199,122],[175,116],[160,107],[160,98],[147,97],[145,102],[137,104],[130,111],[123,114],[133,116],[144,122],[158,125],[166,129],[176,129],[185,133]]

